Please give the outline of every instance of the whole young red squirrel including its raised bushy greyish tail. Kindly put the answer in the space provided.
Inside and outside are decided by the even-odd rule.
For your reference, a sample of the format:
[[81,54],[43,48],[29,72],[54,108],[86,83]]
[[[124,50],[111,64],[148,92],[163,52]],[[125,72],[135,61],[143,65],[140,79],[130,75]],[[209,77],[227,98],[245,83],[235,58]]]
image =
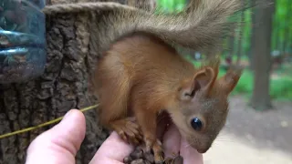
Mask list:
[[[212,52],[221,36],[234,28],[227,18],[243,8],[241,0],[192,0],[176,15],[156,15],[115,3],[47,6],[47,15],[89,12],[91,43],[99,39],[94,86],[99,97],[101,125],[132,143],[141,140],[163,160],[156,137],[156,118],[167,111],[172,122],[198,152],[206,152],[224,127],[227,97],[236,86],[240,69],[217,79],[219,60],[203,67],[180,56],[173,44]],[[96,11],[97,10],[97,11]],[[106,11],[102,16],[95,12]],[[130,119],[134,116],[136,121]]]

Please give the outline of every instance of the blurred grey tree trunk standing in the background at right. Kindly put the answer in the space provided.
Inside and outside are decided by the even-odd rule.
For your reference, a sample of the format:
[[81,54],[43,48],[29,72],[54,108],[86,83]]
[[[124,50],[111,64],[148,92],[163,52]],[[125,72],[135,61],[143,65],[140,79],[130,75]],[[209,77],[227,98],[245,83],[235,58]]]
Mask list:
[[[273,0],[267,1],[272,2]],[[251,105],[258,110],[271,108],[269,75],[271,69],[270,49],[274,7],[274,4],[265,8],[260,6],[255,13],[255,20],[259,24],[254,31],[254,60],[256,65],[254,66],[255,80]]]

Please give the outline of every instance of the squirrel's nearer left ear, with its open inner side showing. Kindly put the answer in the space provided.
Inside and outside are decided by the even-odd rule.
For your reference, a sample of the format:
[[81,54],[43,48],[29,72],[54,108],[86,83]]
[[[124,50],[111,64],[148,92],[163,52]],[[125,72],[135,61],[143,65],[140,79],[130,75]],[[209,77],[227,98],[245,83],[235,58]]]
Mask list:
[[208,94],[214,85],[215,78],[214,69],[212,67],[204,67],[197,71],[192,79],[183,83],[180,89],[180,98],[182,100],[190,99],[198,90],[204,90]]

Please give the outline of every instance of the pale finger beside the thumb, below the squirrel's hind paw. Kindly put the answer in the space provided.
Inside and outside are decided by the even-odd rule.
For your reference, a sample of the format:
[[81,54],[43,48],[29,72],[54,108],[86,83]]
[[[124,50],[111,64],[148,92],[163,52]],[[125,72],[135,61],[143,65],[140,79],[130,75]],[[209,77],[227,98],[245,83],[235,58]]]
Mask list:
[[133,147],[114,131],[100,146],[90,164],[122,164],[123,159],[128,157],[132,151]]

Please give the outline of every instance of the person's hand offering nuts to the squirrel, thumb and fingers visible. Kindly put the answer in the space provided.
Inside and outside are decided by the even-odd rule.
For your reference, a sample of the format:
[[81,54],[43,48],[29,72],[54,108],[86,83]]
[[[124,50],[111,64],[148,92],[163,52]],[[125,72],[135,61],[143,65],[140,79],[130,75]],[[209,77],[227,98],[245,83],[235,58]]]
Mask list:
[[[82,112],[73,109],[54,128],[39,135],[27,149],[26,164],[75,164],[75,156],[85,138],[86,122]],[[202,164],[203,158],[195,149],[186,146],[172,126],[164,135],[166,157],[180,151],[184,164]],[[91,159],[90,164],[122,164],[133,147],[112,132]]]

